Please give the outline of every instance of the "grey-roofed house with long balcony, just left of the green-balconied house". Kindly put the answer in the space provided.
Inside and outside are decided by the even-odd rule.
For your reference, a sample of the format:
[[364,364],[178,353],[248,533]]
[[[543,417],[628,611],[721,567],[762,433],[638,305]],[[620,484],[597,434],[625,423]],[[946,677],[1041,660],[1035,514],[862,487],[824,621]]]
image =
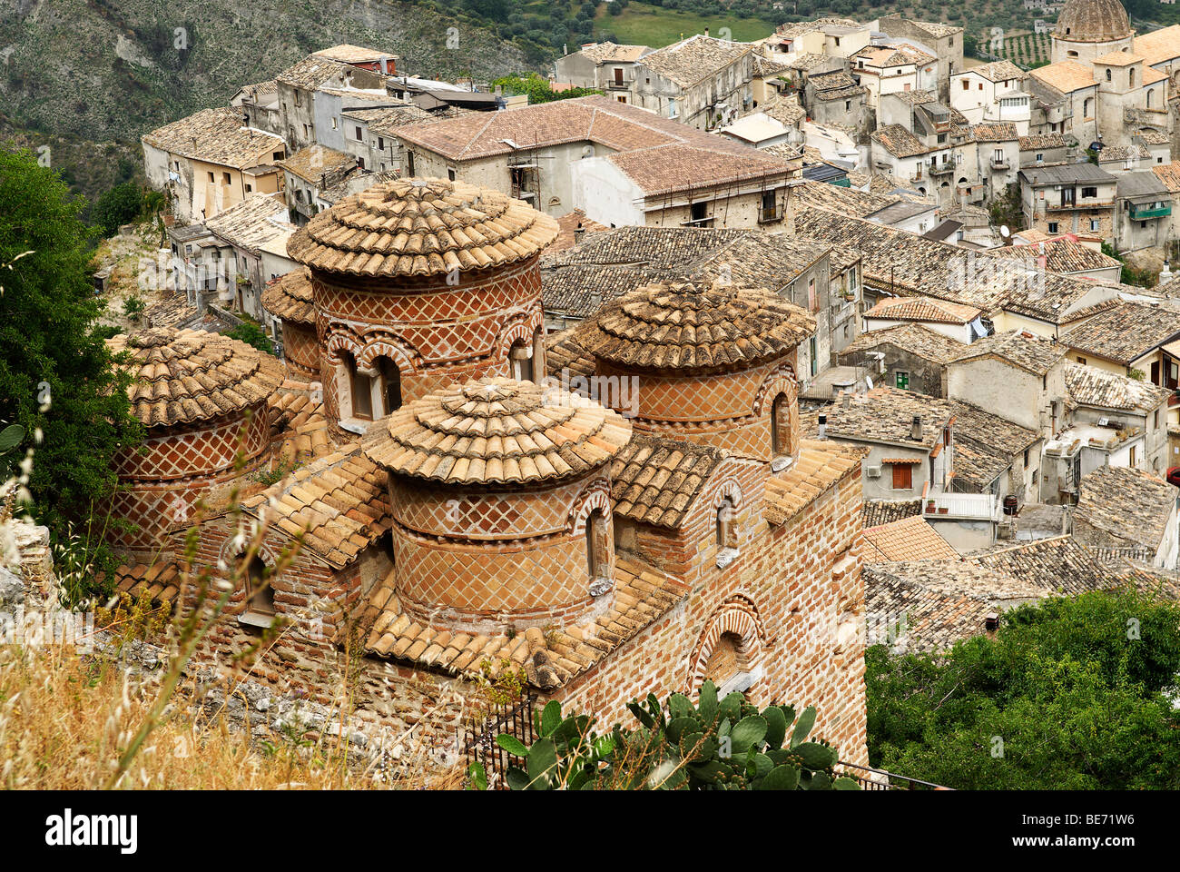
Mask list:
[[1114,239],[1117,180],[1093,163],[1063,163],[1022,169],[1024,222],[1056,236],[1092,233]]

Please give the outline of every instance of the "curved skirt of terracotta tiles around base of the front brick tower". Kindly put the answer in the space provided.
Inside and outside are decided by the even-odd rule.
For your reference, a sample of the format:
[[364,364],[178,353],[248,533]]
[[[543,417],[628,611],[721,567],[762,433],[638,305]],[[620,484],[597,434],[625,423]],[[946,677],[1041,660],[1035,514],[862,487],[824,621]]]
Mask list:
[[405,660],[448,675],[476,677],[485,659],[523,666],[529,683],[560,686],[598,663],[688,593],[678,579],[620,560],[610,607],[588,625],[570,624],[543,632],[529,627],[513,637],[471,635],[424,626],[406,614],[396,594],[396,571],[367,603],[362,626],[371,627],[366,653]]

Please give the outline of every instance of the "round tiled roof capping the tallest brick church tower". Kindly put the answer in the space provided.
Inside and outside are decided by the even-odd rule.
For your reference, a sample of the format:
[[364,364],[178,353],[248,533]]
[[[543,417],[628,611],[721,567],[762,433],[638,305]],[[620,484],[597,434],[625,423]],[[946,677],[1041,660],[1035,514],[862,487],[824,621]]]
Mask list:
[[441,178],[399,178],[346,197],[287,243],[316,269],[434,275],[505,266],[557,237],[557,221],[520,200]]

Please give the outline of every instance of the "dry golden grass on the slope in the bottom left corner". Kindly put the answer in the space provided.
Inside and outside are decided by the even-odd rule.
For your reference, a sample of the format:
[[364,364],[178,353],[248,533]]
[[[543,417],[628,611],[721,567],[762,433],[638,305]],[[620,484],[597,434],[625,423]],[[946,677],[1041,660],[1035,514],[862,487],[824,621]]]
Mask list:
[[[0,785],[13,789],[99,789],[109,785],[160,692],[159,675],[138,677],[111,660],[58,643],[0,649]],[[350,759],[323,731],[231,729],[224,716],[195,717],[191,683],[127,767],[119,788],[345,789],[459,788],[463,774],[427,776],[399,767],[392,780]],[[340,722],[346,721],[342,712]],[[415,754],[409,748],[401,762]],[[417,769],[417,772],[414,772]]]

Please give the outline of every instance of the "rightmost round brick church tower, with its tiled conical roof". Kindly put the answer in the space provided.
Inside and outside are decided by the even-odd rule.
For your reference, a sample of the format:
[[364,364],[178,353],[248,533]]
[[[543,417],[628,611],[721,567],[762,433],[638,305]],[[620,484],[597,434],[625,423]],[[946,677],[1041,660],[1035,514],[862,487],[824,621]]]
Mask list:
[[636,431],[758,460],[799,454],[795,352],[815,319],[778,295],[656,284],[620,298],[588,339],[598,397]]

